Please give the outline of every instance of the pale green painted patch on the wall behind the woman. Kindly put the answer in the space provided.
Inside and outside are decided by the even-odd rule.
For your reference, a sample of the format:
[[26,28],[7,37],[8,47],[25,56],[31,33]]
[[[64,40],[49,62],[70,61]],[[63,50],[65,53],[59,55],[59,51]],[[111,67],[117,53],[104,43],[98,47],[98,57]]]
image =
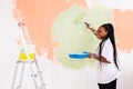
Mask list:
[[113,11],[104,7],[85,9],[72,4],[59,13],[52,26],[52,38],[59,43],[57,59],[65,68],[82,69],[86,66],[95,67],[95,60],[70,59],[69,53],[95,52],[100,40],[86,29],[84,21],[95,29],[105,22],[113,22]]

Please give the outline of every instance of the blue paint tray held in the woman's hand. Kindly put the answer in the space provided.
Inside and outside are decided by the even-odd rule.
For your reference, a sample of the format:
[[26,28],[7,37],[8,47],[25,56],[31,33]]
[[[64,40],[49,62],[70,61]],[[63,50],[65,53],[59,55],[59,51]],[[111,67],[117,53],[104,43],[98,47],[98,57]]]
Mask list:
[[85,59],[89,57],[89,52],[69,53],[72,59]]

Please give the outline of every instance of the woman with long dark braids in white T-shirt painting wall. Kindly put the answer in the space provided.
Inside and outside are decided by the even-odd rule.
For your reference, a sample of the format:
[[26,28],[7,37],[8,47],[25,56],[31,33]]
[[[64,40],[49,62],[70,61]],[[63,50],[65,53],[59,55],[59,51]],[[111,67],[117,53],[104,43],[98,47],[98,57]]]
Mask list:
[[105,23],[94,30],[89,23],[86,27],[99,38],[101,42],[98,53],[90,53],[89,58],[98,60],[98,85],[100,89],[116,89],[119,76],[117,56],[114,39],[114,28]]

